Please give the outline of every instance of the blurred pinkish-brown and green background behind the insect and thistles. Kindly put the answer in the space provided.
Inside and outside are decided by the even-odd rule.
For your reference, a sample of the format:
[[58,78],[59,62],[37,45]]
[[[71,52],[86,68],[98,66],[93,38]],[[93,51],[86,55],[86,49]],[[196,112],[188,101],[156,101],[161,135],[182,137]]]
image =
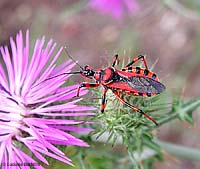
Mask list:
[[[0,43],[9,44],[10,36],[29,29],[34,41],[42,35],[53,38],[59,46],[67,46],[81,65],[89,64],[95,69],[106,67],[116,52],[121,58],[125,53],[130,58],[146,54],[149,65],[156,62],[154,71],[168,92],[186,100],[199,97],[199,0],[138,0],[135,1],[138,9],[132,13],[125,9],[120,19],[92,9],[88,2],[1,0]],[[64,53],[62,57],[67,59]],[[83,79],[76,80],[81,82]],[[160,127],[158,138],[200,148],[198,116],[196,113],[194,126],[176,120]],[[114,163],[116,154],[120,156],[121,153],[119,147],[102,146],[105,154],[99,157],[98,147],[93,145],[91,149],[93,161],[90,163],[99,164],[100,160],[108,166],[107,162]],[[106,154],[108,149],[114,152]],[[97,166],[100,168],[102,166]],[[197,169],[200,164],[166,156],[164,162],[156,162],[153,168]]]

